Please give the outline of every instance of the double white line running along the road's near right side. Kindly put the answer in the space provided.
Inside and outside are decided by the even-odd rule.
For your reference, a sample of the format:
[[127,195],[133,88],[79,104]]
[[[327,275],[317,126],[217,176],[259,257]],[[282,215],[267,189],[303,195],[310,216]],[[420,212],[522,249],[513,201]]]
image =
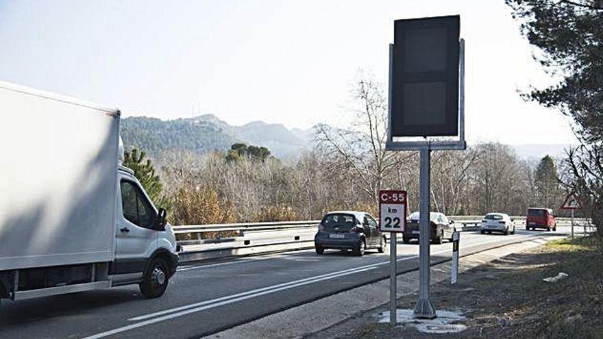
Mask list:
[[[532,237],[532,236],[538,236],[540,234],[546,234],[548,232],[543,231],[543,232],[539,232],[539,233],[534,233],[534,234],[526,234],[524,236],[517,236],[515,237],[515,239],[517,238],[528,238],[528,237]],[[471,244],[469,246],[464,247],[465,249],[467,248],[471,248],[471,247],[476,247],[476,246],[480,246],[483,244],[488,244],[491,242],[498,242],[500,240],[491,240],[491,241],[487,241],[487,242],[480,242],[478,244]],[[441,253],[447,253],[449,252],[448,250],[443,250],[443,251],[436,251],[433,254],[441,254]],[[404,260],[410,260],[410,259],[414,259],[414,258],[418,258],[419,255],[413,255],[410,257],[406,257],[406,258],[400,258],[398,260],[396,260],[397,262],[400,261],[404,261]],[[218,298],[218,299],[212,299],[211,301],[201,301],[200,303],[194,303],[194,304],[190,304],[190,305],[184,305],[181,307],[175,307],[169,310],[164,310],[164,311],[160,311],[160,312],[155,312],[155,313],[151,313],[151,314],[145,314],[143,316],[137,316],[134,318],[130,318],[130,321],[135,321],[135,320],[143,320],[143,319],[148,319],[146,321],[141,321],[140,323],[135,323],[132,325],[127,325],[124,327],[118,327],[116,329],[111,329],[109,331],[104,331],[101,332],[99,334],[94,334],[93,336],[88,336],[82,339],[99,339],[99,338],[105,338],[107,336],[112,336],[114,334],[119,334],[122,333],[124,331],[129,331],[130,329],[136,329],[138,327],[144,327],[147,325],[152,325],[155,323],[160,323],[162,321],[167,321],[173,318],[178,318],[180,316],[185,316],[187,314],[191,314],[191,313],[195,313],[195,312],[201,312],[203,310],[208,310],[210,308],[214,308],[214,307],[219,307],[221,305],[227,305],[229,303],[236,303],[237,301],[243,301],[246,299],[251,299],[254,297],[260,297],[264,294],[271,294],[274,292],[279,292],[281,290],[288,290],[291,288],[295,288],[295,287],[299,287],[299,286],[304,286],[304,285],[308,285],[308,284],[314,284],[316,282],[319,281],[323,281],[323,280],[328,280],[328,279],[334,279],[336,277],[341,277],[344,275],[351,275],[354,273],[360,273],[363,271],[370,271],[373,268],[376,268],[377,266],[380,265],[384,265],[384,264],[389,264],[389,261],[387,262],[379,262],[376,264],[370,264],[370,265],[365,265],[365,266],[360,266],[357,268],[349,268],[347,270],[344,271],[339,271],[339,272],[334,272],[334,273],[328,273],[328,274],[324,274],[324,275],[318,275],[315,277],[308,277],[305,279],[299,279],[296,281],[290,281],[288,283],[284,283],[284,284],[279,284],[279,285],[275,285],[275,286],[269,286],[266,288],[258,288],[257,290],[253,290],[253,291],[249,291],[249,292],[243,292],[243,293],[239,293],[239,294],[234,294],[232,296],[227,296],[227,297],[222,297],[222,298]],[[280,287],[278,287],[280,286]],[[254,292],[257,291],[257,292]],[[239,297],[237,297],[239,296]],[[163,315],[163,314],[167,314],[167,315]],[[163,316],[161,316],[163,315]],[[158,316],[157,318],[154,318]],[[150,319],[149,319],[150,318]]]

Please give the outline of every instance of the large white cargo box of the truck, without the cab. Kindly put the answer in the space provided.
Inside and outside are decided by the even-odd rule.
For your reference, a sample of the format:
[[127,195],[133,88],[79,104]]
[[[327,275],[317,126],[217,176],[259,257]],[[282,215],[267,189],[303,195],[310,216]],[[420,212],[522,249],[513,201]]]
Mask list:
[[114,255],[119,111],[0,81],[0,271]]

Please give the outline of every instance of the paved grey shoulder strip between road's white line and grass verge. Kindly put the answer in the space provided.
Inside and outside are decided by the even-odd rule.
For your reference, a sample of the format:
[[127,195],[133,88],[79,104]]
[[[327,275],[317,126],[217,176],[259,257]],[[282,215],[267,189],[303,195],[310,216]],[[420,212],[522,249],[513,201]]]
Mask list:
[[[512,253],[534,249],[545,243],[543,239],[528,240],[504,247],[490,249],[467,255],[460,260],[460,273],[465,273],[473,268],[483,266],[497,258],[502,258]],[[470,277],[464,274],[460,277],[460,284]],[[450,286],[450,262],[432,266],[432,284],[442,283]],[[397,297],[401,303],[408,299],[414,302],[412,296],[419,286],[418,271],[413,271],[397,277]],[[410,301],[412,300],[412,301]],[[378,307],[384,306],[389,301],[389,279],[384,279],[373,284],[360,286],[352,290],[334,294],[330,297],[306,303],[289,310],[265,316],[256,321],[221,331],[205,338],[330,338],[341,337],[341,333],[332,334],[336,327],[345,326],[345,322],[357,321],[366,317]],[[434,300],[436,303],[438,300]],[[374,321],[373,321],[374,323]],[[353,331],[352,331],[353,333]],[[331,336],[332,335],[332,336]],[[349,337],[358,338],[358,337]]]

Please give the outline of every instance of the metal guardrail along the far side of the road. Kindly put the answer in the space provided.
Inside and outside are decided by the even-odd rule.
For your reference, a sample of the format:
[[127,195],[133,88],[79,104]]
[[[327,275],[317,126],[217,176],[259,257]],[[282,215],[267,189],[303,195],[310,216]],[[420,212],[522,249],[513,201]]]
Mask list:
[[[458,231],[475,231],[483,216],[449,216]],[[525,216],[513,216],[517,226],[525,225]],[[570,218],[557,218],[559,225],[569,225]],[[577,219],[575,219],[577,220]],[[584,219],[580,219],[584,221]],[[272,251],[310,249],[320,221],[281,221],[273,223],[235,223],[213,225],[174,226],[174,233],[182,238],[181,262],[226,258]],[[576,224],[576,223],[575,223]],[[208,238],[204,234],[212,234]],[[227,236],[223,236],[227,234]]]

